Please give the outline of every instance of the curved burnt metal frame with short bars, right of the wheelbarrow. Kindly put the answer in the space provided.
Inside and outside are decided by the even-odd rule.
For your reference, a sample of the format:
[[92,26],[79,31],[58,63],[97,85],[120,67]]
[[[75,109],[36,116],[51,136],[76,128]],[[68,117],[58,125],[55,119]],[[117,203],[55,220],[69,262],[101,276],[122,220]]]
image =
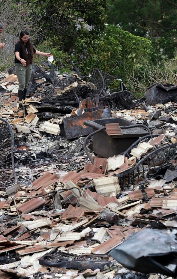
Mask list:
[[[146,143],[147,143],[150,139],[153,139],[154,137],[158,137],[158,136],[159,136],[159,135],[148,135],[148,136],[141,137],[141,138],[140,138],[139,140],[137,140],[134,144],[132,144],[132,145],[123,153],[123,155],[124,155],[124,156],[127,156],[128,158],[130,158],[130,157],[131,157],[131,155],[130,155],[131,149],[136,148],[136,147],[138,146],[139,143],[142,143],[142,142],[146,142]],[[144,155],[144,157],[143,157],[142,159],[136,158],[137,164],[136,164],[134,167],[132,167],[132,168],[129,169],[129,170],[125,170],[124,172],[122,172],[122,173],[116,175],[116,176],[119,178],[119,182],[120,182],[120,179],[121,179],[121,184],[122,184],[122,186],[125,186],[125,185],[124,185],[125,176],[127,176],[127,175],[128,175],[128,183],[127,183],[127,186],[129,185],[130,180],[131,180],[131,177],[130,177],[131,173],[133,174],[132,184],[134,184],[134,180],[135,180],[135,170],[137,170],[138,179],[140,178],[140,170],[139,170],[140,165],[142,166],[143,178],[145,179],[144,163],[145,163],[145,162],[147,163],[148,169],[149,169],[149,171],[150,171],[150,166],[149,166],[149,161],[148,161],[149,158],[152,159],[152,163],[153,163],[154,168],[158,167],[158,166],[155,166],[155,161],[154,161],[154,158],[153,158],[154,155],[157,155],[157,157],[158,157],[158,159],[159,159],[159,162],[160,162],[160,165],[161,165],[161,167],[163,167],[163,165],[162,165],[162,163],[161,163],[161,161],[160,161],[160,157],[159,157],[158,153],[159,153],[160,151],[163,151],[163,150],[168,149],[168,148],[173,148],[173,147],[176,148],[176,147],[177,147],[177,143],[171,144],[168,138],[166,138],[166,140],[167,140],[168,143],[169,143],[168,145],[163,146],[163,147],[160,147],[160,148],[158,148],[158,147],[155,145],[155,146],[154,146],[154,147],[155,147],[155,150],[154,150],[154,151],[150,152],[150,153],[147,154],[147,155]],[[168,161],[167,156],[166,156],[166,153],[164,153],[164,154],[165,154],[166,160]],[[151,167],[151,168],[152,168],[152,167]]]

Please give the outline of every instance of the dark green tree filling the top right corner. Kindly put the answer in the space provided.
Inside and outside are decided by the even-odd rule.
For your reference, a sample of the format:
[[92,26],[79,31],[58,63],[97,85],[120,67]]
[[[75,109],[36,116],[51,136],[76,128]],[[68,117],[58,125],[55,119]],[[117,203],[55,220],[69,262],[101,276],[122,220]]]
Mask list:
[[109,0],[108,22],[153,44],[153,59],[176,54],[177,0]]

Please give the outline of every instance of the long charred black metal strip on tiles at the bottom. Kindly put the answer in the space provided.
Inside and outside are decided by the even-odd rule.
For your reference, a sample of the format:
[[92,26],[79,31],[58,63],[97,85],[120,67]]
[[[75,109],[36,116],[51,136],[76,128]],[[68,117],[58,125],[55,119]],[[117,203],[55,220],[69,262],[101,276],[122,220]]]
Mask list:
[[108,255],[76,255],[73,253],[63,251],[53,251],[46,253],[39,259],[40,265],[52,266],[52,267],[65,267],[65,268],[77,268],[85,269],[91,268],[95,270],[99,268],[104,270],[105,266],[111,267],[114,262],[109,261]]

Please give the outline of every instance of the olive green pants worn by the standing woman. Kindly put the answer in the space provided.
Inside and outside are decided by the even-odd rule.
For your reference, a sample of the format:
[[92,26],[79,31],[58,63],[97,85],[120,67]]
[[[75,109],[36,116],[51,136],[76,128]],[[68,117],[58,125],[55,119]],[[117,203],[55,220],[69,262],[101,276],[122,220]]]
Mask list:
[[18,90],[24,90],[28,88],[28,83],[32,73],[32,65],[23,66],[21,63],[15,63],[15,74],[19,82]]

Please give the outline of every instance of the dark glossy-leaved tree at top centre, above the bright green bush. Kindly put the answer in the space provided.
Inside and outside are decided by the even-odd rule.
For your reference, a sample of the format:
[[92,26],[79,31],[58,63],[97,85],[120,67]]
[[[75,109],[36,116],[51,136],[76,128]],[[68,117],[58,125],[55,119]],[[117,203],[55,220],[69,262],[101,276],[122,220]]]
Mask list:
[[106,22],[107,0],[31,0],[44,24],[38,26],[45,40],[59,46],[64,52],[73,49],[75,41],[82,36],[98,34]]

